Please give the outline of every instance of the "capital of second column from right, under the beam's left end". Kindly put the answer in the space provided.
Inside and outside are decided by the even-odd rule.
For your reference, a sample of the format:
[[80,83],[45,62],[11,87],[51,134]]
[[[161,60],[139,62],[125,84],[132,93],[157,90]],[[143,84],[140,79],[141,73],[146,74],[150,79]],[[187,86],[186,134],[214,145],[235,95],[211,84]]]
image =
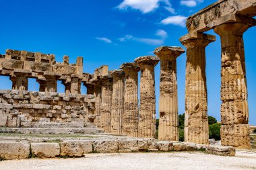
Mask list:
[[195,46],[205,48],[208,44],[216,40],[216,36],[203,34],[202,32],[191,32],[181,37],[179,40],[186,48],[193,48]]

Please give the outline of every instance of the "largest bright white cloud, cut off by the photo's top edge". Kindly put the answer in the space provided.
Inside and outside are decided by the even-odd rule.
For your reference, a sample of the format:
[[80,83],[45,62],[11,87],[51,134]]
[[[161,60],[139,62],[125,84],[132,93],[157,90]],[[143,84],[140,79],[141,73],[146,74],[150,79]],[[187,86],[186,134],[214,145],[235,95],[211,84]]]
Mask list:
[[[201,0],[200,0],[201,1]],[[141,11],[142,13],[150,13],[154,11],[158,7],[160,7],[160,3],[164,3],[164,9],[170,11],[170,13],[175,13],[175,10],[172,8],[169,0],[124,0],[117,7],[119,9],[136,9]]]

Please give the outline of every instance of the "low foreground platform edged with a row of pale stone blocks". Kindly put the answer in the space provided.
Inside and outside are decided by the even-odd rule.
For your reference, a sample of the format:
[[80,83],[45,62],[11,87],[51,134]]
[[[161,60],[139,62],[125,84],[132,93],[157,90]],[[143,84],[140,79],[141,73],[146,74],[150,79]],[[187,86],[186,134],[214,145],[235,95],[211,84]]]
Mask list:
[[232,146],[168,142],[111,134],[0,134],[0,160],[84,157],[89,153],[201,151],[234,156]]

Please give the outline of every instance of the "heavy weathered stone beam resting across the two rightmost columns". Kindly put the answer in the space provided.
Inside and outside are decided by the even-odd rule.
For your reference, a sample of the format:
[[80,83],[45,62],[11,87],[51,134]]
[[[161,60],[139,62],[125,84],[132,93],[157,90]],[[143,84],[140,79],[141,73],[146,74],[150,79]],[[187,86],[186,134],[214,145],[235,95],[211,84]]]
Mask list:
[[255,0],[220,0],[191,15],[187,19],[187,29],[189,32],[211,30],[213,28],[212,22],[216,22],[220,17],[229,14],[254,17],[256,15],[255,4]]

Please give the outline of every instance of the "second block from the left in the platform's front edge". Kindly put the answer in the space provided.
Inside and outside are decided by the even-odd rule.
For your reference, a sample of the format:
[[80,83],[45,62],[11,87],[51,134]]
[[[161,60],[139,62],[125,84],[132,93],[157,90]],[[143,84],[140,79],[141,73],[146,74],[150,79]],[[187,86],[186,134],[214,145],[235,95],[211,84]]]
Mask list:
[[58,143],[31,143],[31,151],[36,157],[54,158],[60,155]]

